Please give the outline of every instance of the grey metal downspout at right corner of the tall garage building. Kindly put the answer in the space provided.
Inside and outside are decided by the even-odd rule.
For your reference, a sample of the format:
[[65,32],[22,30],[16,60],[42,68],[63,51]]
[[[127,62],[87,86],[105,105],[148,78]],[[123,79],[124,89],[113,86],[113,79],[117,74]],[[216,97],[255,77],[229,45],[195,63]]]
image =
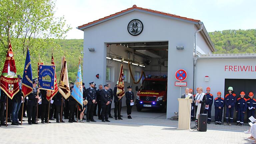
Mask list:
[[195,31],[195,35],[194,35],[194,77],[193,77],[193,91],[196,91],[196,61],[197,59],[200,57],[197,53],[196,53],[196,39],[197,39],[197,32],[200,32],[203,29],[203,22],[198,22],[198,24],[200,25],[200,29]]

